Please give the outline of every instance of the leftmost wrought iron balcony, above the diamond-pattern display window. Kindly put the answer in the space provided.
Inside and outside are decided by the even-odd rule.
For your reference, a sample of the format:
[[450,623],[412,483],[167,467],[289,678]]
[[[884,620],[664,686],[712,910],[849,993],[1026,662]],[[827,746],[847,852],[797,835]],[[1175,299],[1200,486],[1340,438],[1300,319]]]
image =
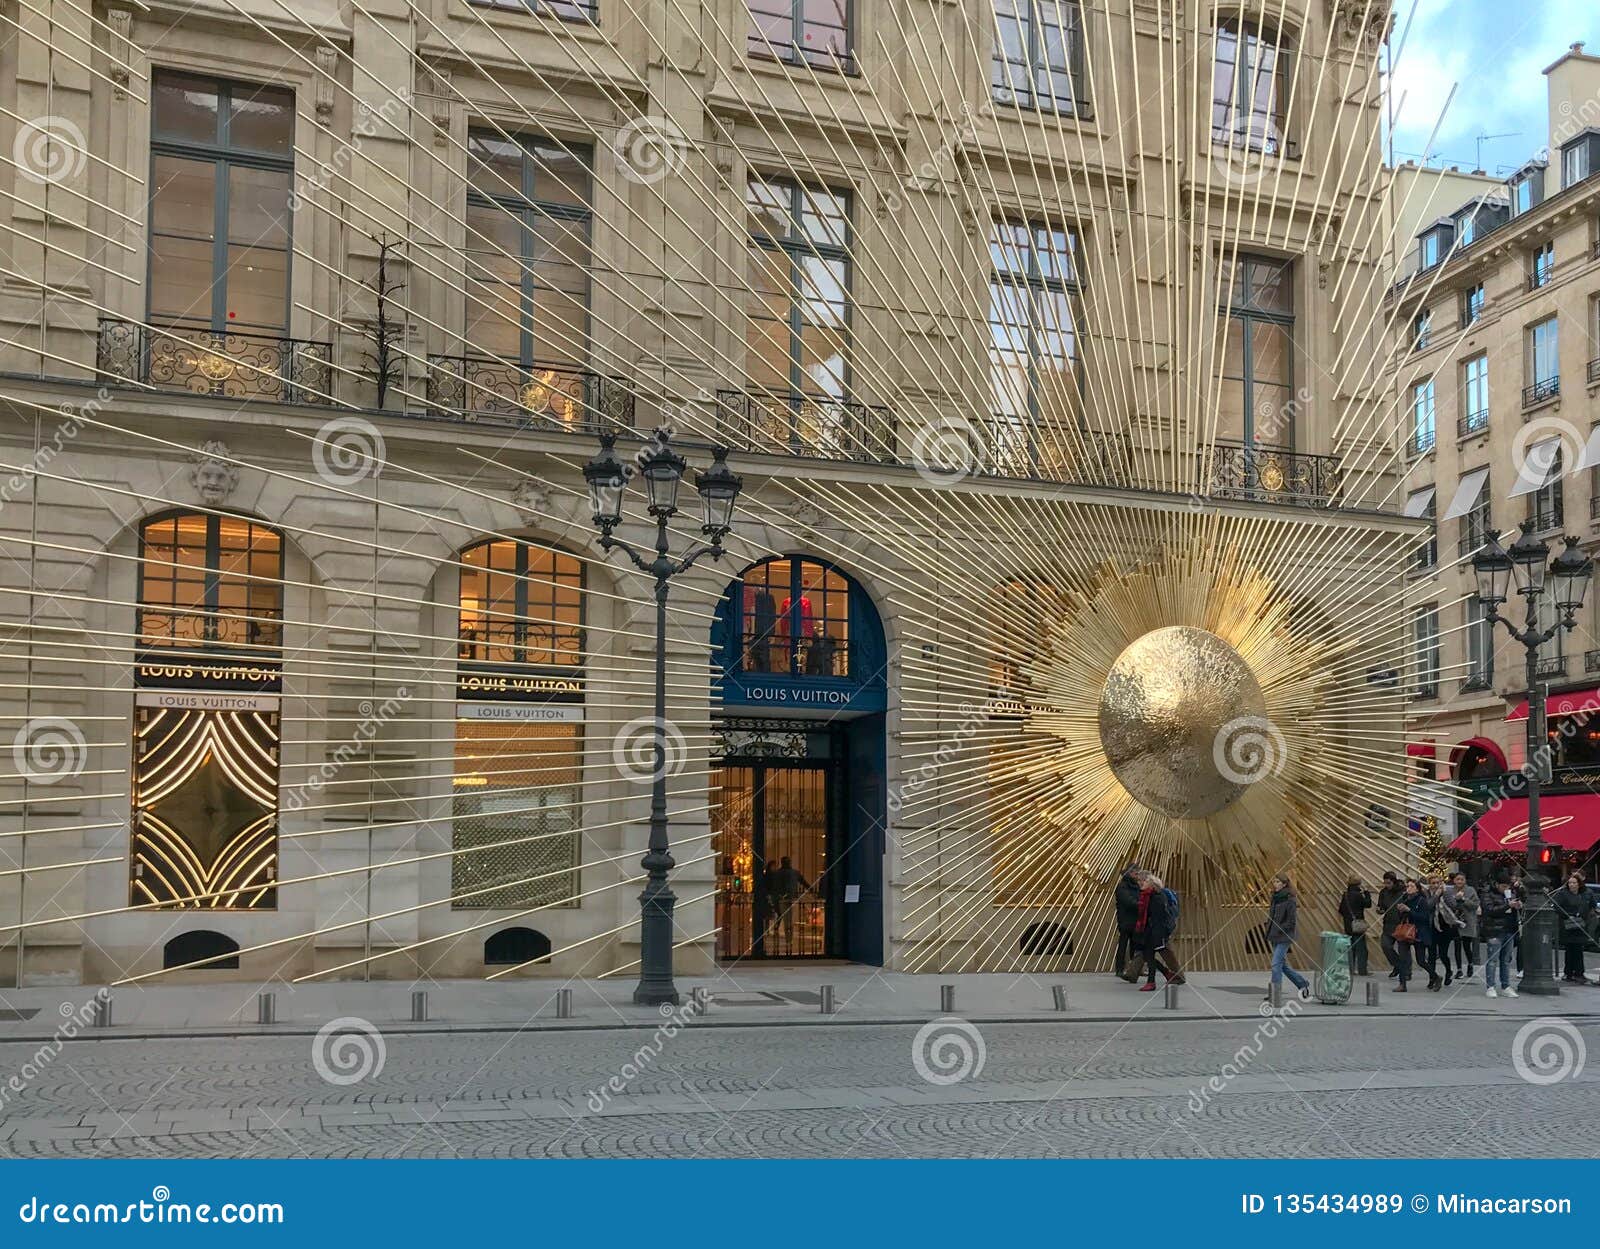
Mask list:
[[278,403],[333,403],[333,344],[195,325],[102,318],[102,379]]

